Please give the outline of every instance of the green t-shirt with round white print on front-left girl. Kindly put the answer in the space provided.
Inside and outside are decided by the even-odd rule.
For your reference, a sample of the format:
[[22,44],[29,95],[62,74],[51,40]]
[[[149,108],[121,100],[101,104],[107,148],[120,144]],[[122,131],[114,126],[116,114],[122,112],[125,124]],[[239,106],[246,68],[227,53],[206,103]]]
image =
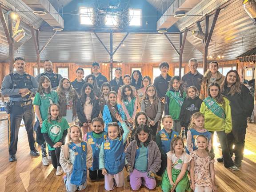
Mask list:
[[[48,120],[44,120],[42,124],[41,133],[48,133],[48,136],[52,140],[53,143],[57,143],[62,139],[64,130],[68,129],[68,121],[65,118],[62,118],[60,122],[56,120],[51,120],[51,123]],[[51,147],[48,144],[48,149],[50,151],[55,150],[55,148]]]

